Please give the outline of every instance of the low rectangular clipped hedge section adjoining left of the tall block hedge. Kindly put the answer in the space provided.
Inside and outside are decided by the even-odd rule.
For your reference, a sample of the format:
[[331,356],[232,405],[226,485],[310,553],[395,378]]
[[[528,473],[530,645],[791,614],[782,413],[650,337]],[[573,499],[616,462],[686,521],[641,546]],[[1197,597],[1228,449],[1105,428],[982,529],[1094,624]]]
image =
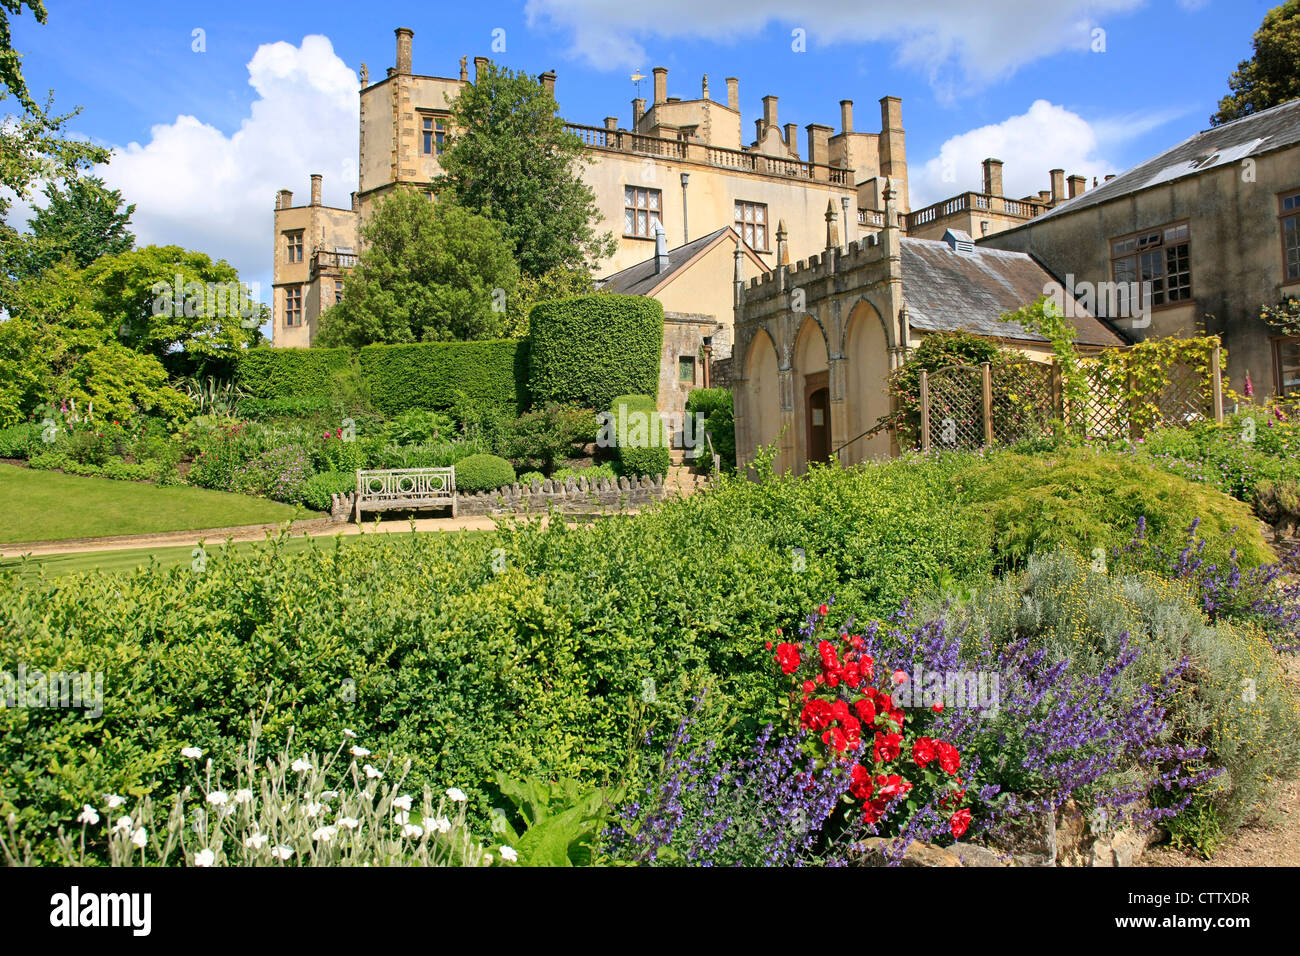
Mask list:
[[358,356],[370,399],[386,415],[450,408],[460,395],[512,412],[528,406],[526,342],[368,345]]

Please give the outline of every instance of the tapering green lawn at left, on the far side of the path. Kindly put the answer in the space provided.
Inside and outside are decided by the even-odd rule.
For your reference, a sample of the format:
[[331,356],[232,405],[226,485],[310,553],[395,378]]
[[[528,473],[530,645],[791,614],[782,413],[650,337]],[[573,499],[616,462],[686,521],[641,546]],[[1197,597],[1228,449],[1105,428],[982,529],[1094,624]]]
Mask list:
[[[286,522],[303,509],[179,485],[112,481],[0,464],[0,542],[148,535]],[[309,512],[308,512],[309,514]]]

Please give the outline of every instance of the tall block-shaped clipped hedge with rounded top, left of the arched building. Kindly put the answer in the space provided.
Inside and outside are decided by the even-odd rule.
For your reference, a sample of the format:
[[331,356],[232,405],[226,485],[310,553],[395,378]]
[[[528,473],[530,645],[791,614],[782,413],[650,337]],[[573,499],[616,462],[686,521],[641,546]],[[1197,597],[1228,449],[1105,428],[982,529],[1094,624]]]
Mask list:
[[533,306],[536,402],[608,408],[616,395],[659,394],[663,306],[641,295],[581,295]]

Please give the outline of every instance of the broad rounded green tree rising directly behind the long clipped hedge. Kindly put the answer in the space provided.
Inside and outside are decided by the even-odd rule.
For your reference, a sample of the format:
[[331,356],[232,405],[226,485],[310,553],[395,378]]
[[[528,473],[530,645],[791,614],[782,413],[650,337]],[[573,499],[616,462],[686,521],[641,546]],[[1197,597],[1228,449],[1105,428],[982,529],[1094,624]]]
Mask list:
[[399,189],[363,226],[364,252],[317,343],[500,338],[519,268],[495,222]]

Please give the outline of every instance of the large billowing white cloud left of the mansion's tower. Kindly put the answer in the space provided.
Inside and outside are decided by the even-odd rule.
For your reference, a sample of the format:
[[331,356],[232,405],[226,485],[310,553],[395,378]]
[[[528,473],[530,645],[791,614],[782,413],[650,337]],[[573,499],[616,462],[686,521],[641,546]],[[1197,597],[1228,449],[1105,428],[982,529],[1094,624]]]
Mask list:
[[308,177],[321,173],[324,202],[346,207],[356,189],[360,83],[316,35],[298,47],[259,47],[248,83],[257,99],[230,135],[178,116],[153,126],[147,143],[120,148],[100,174],[135,203],[138,245],[176,243],[228,259],[268,299],[276,190],[291,189],[303,203]]

